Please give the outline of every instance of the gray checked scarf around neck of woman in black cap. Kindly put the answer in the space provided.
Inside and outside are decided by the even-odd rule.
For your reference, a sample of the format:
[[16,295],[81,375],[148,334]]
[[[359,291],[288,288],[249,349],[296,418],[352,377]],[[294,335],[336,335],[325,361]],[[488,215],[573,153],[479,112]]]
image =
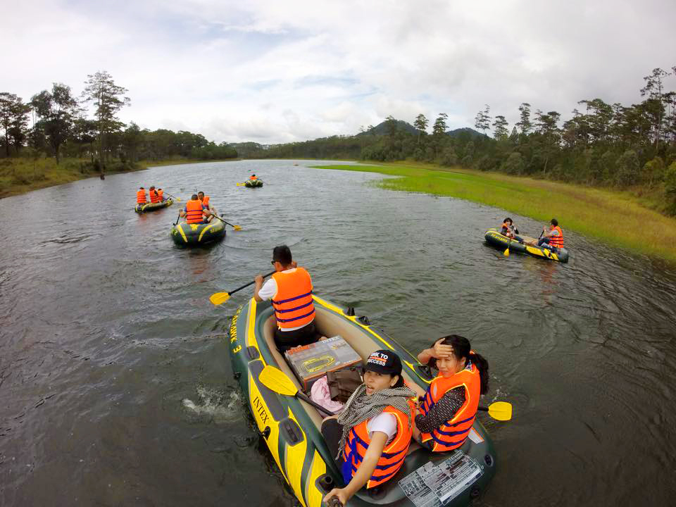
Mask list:
[[408,415],[408,425],[413,424],[411,418],[411,406],[408,399],[413,398],[415,392],[408,387],[389,387],[382,391],[366,396],[366,384],[361,384],[346,401],[343,411],[338,416],[338,423],[343,425],[343,434],[338,446],[336,459],[342,456],[345,449],[347,434],[351,428],[363,423],[365,420],[374,418],[382,413],[385,407],[393,406]]

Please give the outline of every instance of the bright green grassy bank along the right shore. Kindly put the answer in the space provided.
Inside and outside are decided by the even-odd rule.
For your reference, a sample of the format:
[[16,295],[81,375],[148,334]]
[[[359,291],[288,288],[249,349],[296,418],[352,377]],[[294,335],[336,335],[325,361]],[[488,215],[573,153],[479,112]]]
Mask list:
[[[676,220],[642,206],[639,198],[627,192],[418,163],[316,167],[398,176],[382,180],[378,185],[385,189],[457,197],[543,223],[556,217],[564,233],[566,229],[575,230],[614,246],[676,261]],[[486,228],[497,225],[486,224]],[[482,233],[478,231],[477,235]]]

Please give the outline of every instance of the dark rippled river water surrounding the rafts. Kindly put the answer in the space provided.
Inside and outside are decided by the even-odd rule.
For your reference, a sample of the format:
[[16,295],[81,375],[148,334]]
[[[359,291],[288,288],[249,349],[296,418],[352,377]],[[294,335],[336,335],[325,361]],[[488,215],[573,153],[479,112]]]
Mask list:
[[[270,270],[282,243],[315,292],[411,351],[455,332],[488,358],[488,401],[514,417],[484,420],[499,470],[477,504],[673,504],[675,270],[565,223],[567,265],[505,257],[483,242],[504,211],[298,163],[166,166],[0,200],[0,505],[294,505],[224,340],[251,291],[208,301]],[[235,186],[251,171],[265,187]],[[151,184],[204,189],[243,230],[178,249],[176,205],[132,211]]]

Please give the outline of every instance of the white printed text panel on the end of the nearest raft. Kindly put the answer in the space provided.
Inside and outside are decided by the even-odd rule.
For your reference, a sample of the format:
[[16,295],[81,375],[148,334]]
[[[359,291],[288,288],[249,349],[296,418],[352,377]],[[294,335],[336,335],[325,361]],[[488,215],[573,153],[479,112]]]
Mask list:
[[451,503],[483,473],[470,456],[455,451],[437,464],[425,463],[400,480],[399,486],[416,507],[440,507]]

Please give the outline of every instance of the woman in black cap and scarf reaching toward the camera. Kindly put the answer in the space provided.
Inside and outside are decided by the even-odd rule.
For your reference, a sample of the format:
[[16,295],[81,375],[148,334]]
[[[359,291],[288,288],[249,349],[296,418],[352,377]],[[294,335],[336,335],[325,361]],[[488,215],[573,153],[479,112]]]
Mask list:
[[363,486],[375,487],[394,477],[411,445],[415,393],[403,384],[401,360],[393,351],[371,353],[364,383],[343,411],[322,424],[322,434],[342,469],[344,488],[332,489],[345,505]]

